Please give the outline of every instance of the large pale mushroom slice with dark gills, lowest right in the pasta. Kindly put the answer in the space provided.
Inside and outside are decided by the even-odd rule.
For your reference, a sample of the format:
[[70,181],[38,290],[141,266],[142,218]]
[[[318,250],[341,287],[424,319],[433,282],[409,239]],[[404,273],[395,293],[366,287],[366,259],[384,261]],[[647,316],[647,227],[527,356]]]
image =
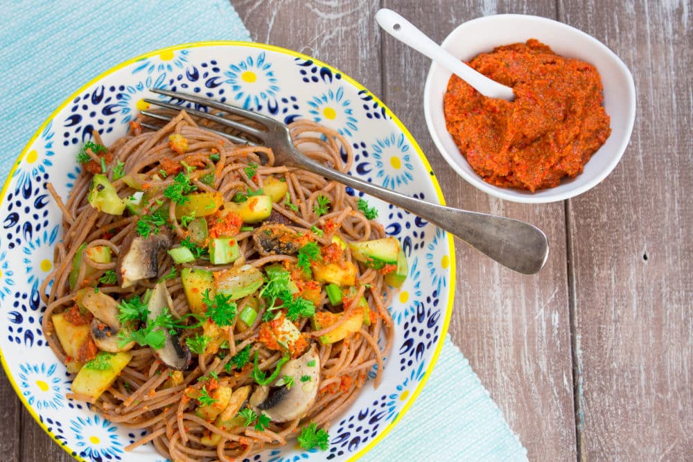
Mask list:
[[[293,378],[290,388],[284,384],[285,376]],[[279,377],[270,387],[258,387],[250,397],[250,405],[272,422],[304,416],[315,402],[320,385],[320,356],[315,344],[303,356],[284,364]]]

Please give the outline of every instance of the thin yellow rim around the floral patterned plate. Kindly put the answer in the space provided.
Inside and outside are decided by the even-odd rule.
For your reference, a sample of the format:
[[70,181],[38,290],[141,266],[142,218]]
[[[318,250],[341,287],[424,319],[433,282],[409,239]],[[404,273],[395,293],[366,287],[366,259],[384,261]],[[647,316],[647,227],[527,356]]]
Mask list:
[[[181,49],[187,49],[187,48],[204,48],[204,47],[213,47],[213,46],[239,46],[239,47],[249,47],[249,48],[259,48],[262,50],[266,51],[274,51],[277,53],[281,53],[283,55],[289,55],[291,57],[299,57],[304,60],[312,60],[315,62],[315,64],[318,64],[320,66],[325,66],[326,68],[330,69],[333,71],[333,73],[340,73],[342,75],[342,80],[345,80],[346,82],[349,82],[350,85],[355,87],[358,91],[365,90],[368,91],[368,93],[373,96],[373,99],[380,107],[383,107],[387,114],[392,118],[392,122],[395,123],[395,125],[398,127],[399,130],[404,134],[405,138],[407,141],[411,143],[412,148],[414,148],[414,152],[416,152],[417,156],[419,157],[420,161],[423,163],[424,168],[430,172],[430,175],[426,175],[428,178],[430,178],[430,181],[432,183],[433,188],[435,189],[437,199],[439,200],[439,203],[441,205],[445,205],[445,197],[443,195],[443,191],[440,188],[440,184],[438,182],[437,177],[434,175],[433,170],[430,166],[430,162],[428,161],[426,154],[423,153],[423,150],[421,150],[421,146],[419,146],[419,143],[416,142],[416,139],[414,139],[414,136],[411,134],[411,132],[405,127],[405,125],[400,121],[400,119],[392,112],[392,109],[390,109],[385,103],[383,103],[380,98],[378,98],[373,92],[371,92],[369,89],[367,89],[364,85],[362,85],[360,82],[357,80],[351,78],[351,76],[347,75],[346,73],[340,71],[337,69],[335,66],[331,66],[330,64],[327,64],[325,62],[322,62],[321,60],[316,59],[315,57],[312,57],[310,55],[306,55],[304,53],[300,53],[298,51],[293,51],[290,50],[289,48],[283,48],[281,46],[276,46],[276,45],[270,45],[270,44],[263,44],[263,43],[258,43],[258,42],[241,42],[238,40],[208,40],[208,41],[202,41],[202,42],[186,42],[183,44],[177,44],[177,45],[172,45],[172,46],[166,46],[163,48],[157,48],[156,50],[153,51],[148,51],[146,53],[142,53],[140,55],[130,57],[127,60],[124,60],[123,62],[120,62],[119,64],[116,64],[115,66],[110,67],[109,69],[106,69],[103,72],[98,73],[94,78],[91,78],[88,82],[86,82],[84,85],[81,85],[73,91],[67,98],[65,98],[58,107],[56,107],[49,116],[46,117],[46,119],[41,123],[40,127],[34,132],[33,136],[28,139],[26,142],[26,145],[24,148],[21,150],[19,155],[17,156],[17,159],[15,160],[15,163],[12,164],[12,168],[10,168],[10,171],[8,172],[8,175],[3,183],[2,188],[0,189],[0,204],[4,202],[6,199],[6,195],[8,193],[8,188],[10,187],[10,183],[12,182],[12,178],[15,174],[15,171],[21,163],[25,160],[26,154],[29,152],[31,146],[35,141],[40,137],[41,133],[44,131],[46,126],[53,121],[53,119],[58,116],[58,114],[67,106],[69,106],[74,98],[79,96],[82,91],[85,91],[91,87],[91,85],[94,85],[96,82],[99,80],[102,80],[103,78],[106,78],[108,75],[111,75],[112,73],[115,73],[116,71],[119,71],[120,69],[125,68],[126,66],[129,66],[130,64],[133,64],[134,62],[146,59],[147,57],[159,55],[160,53],[163,53],[165,51],[177,51]],[[444,231],[445,232],[445,231]],[[457,264],[455,260],[455,240],[453,238],[453,235],[451,233],[446,233],[446,238],[448,241],[448,265],[449,265],[449,281],[448,281],[448,289],[449,289],[449,294],[448,294],[448,301],[445,305],[444,308],[441,308],[441,311],[444,310],[444,320],[441,324],[441,330],[439,332],[439,339],[437,342],[437,345],[435,346],[435,349],[433,350],[433,353],[430,357],[430,362],[426,366],[426,371],[423,374],[423,377],[421,377],[421,380],[419,381],[419,384],[417,385],[416,389],[412,393],[410,393],[410,396],[407,399],[407,402],[405,405],[402,407],[401,411],[399,411],[398,415],[390,422],[387,424],[385,428],[383,428],[383,431],[376,436],[376,438],[373,438],[367,445],[362,447],[356,454],[353,454],[347,461],[352,462],[360,459],[362,456],[367,454],[373,447],[375,447],[389,432],[392,431],[392,429],[399,423],[399,421],[403,418],[405,414],[407,414],[407,411],[412,407],[414,402],[416,401],[416,398],[419,397],[421,394],[421,391],[423,391],[423,388],[426,386],[426,383],[428,382],[428,377],[430,377],[430,373],[433,371],[435,368],[436,363],[438,362],[440,353],[443,349],[443,345],[446,341],[447,338],[447,332],[448,332],[448,327],[450,326],[450,319],[452,317],[452,312],[453,312],[453,305],[455,301],[455,277],[456,277],[456,269],[457,269]],[[47,425],[42,422],[41,417],[37,413],[37,411],[29,405],[28,401],[26,398],[23,396],[21,393],[21,389],[19,387],[19,384],[17,383],[17,380],[15,380],[15,375],[12,373],[10,370],[9,364],[6,359],[6,355],[2,353],[0,350],[0,363],[3,366],[3,370],[5,371],[6,377],[8,378],[10,384],[12,385],[12,389],[14,389],[15,394],[17,398],[21,401],[21,404],[24,405],[30,416],[33,417],[37,425],[43,429],[43,431],[53,440],[55,443],[58,444],[58,446],[62,447],[62,449],[70,454],[74,459],[78,461],[84,461],[88,462],[87,459],[83,459],[78,452],[73,450],[67,443],[64,443],[58,439],[58,437],[53,434],[52,432],[49,431]]]

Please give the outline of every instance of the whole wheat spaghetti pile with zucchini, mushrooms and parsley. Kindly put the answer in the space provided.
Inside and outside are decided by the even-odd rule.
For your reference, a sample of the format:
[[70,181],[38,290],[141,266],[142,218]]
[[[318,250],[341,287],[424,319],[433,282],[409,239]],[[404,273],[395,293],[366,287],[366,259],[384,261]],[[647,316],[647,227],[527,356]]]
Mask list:
[[[43,328],[77,373],[70,398],[148,430],[128,450],[152,443],[174,461],[237,460],[305,431],[319,440],[371,371],[380,383],[392,346],[395,268],[348,245],[382,240],[383,226],[342,184],[275,165],[270,148],[234,145],[184,112],[156,132],[130,128],[86,146],[67,199],[49,186],[64,233],[40,290]],[[351,166],[336,132],[290,130],[309,157]],[[258,215],[263,197],[271,211]],[[132,257],[136,242],[145,256]],[[229,291],[229,274],[261,276]]]

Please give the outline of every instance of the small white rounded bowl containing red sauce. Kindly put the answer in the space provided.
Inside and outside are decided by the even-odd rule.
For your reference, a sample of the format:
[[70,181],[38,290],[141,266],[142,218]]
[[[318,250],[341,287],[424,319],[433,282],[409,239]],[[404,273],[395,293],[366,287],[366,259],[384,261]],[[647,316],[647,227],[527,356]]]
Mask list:
[[461,60],[471,60],[495,46],[538,39],[554,53],[583,60],[597,67],[604,85],[604,108],[611,117],[611,136],[599,148],[584,171],[575,178],[563,179],[559,186],[530,193],[500,188],[486,183],[469,166],[445,126],[443,96],[450,72],[432,63],[423,93],[423,110],[428,130],[438,150],[455,169],[484,193],[514,202],[541,204],[577,196],[606,178],[621,159],[631,138],[635,121],[635,85],[633,76],[617,55],[602,42],[581,30],[558,21],[528,15],[494,15],[467,21],[453,30],[442,46]]

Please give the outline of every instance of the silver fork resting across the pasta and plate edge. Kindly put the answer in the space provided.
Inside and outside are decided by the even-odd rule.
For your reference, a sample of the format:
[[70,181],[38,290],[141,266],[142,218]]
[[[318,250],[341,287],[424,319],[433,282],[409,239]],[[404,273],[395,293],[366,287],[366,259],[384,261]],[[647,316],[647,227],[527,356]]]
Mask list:
[[[279,121],[275,121],[273,118],[246,109],[240,109],[239,107],[218,103],[207,98],[200,98],[199,96],[162,89],[151,89],[151,91],[177,100],[189,101],[198,105],[219,109],[228,114],[234,114],[258,123],[265,127],[266,130],[250,127],[239,121],[231,121],[227,118],[196,109],[188,109],[159,100],[145,99],[147,103],[152,105],[175,110],[184,109],[193,116],[206,118],[253,136],[261,140],[267,147],[272,148],[275,163],[278,165],[303,168],[317,175],[322,175],[327,179],[338,181],[341,184],[383,199],[390,204],[400,206],[414,213],[414,215],[419,215],[424,220],[445,229],[448,233],[452,233],[468,245],[471,245],[471,247],[510,269],[523,274],[534,274],[546,262],[549,254],[549,244],[545,234],[536,226],[511,218],[432,204],[421,199],[414,199],[414,197],[396,193],[393,190],[381,188],[351,175],[344,175],[342,172],[309,159],[295,148],[288,127]],[[164,121],[170,120],[170,117],[153,112],[143,111],[142,114]],[[151,128],[156,130],[158,127],[152,126]],[[254,144],[241,136],[223,132],[218,133],[236,143]]]

